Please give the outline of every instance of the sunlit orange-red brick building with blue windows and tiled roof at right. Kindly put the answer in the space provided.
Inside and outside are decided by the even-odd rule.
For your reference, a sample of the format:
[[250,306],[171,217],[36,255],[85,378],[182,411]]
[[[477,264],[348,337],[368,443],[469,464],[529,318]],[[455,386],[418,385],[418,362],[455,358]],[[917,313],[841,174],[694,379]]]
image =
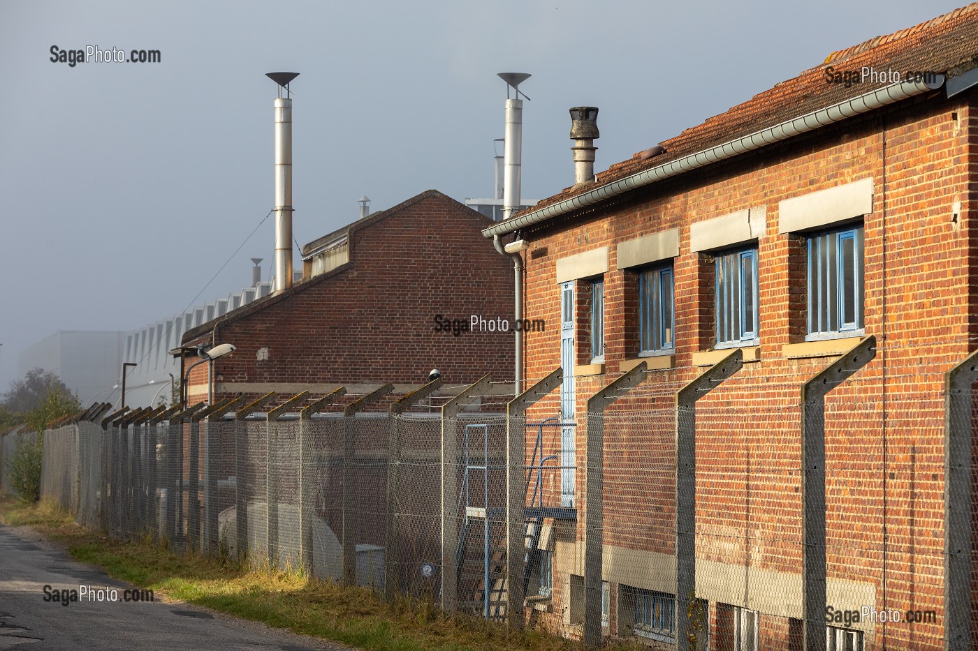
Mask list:
[[[688,629],[676,397],[739,349],[696,405],[699,643],[814,649],[826,627],[826,649],[978,648],[974,546],[958,553],[948,520],[967,537],[973,502],[945,499],[945,383],[978,333],[976,65],[970,5],[832,53],[483,232],[526,242],[524,314],[561,324],[526,335],[527,386],[564,370],[532,417],[563,422],[543,486],[568,509],[541,544],[534,616],[587,636],[587,400],[645,363],[603,420],[601,629],[664,648]],[[825,398],[825,503],[807,513],[801,389],[870,336],[872,359]],[[824,571],[803,574],[820,518]],[[831,621],[803,605],[821,579]]]

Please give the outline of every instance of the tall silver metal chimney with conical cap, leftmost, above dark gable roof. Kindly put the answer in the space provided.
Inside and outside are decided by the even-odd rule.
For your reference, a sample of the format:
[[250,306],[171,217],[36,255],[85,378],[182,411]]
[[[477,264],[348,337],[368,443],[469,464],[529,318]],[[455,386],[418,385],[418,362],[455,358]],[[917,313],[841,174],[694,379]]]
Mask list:
[[[289,82],[298,72],[268,72],[279,85],[275,100],[275,284],[273,291],[292,286],[292,100]],[[282,91],[286,97],[282,97]]]

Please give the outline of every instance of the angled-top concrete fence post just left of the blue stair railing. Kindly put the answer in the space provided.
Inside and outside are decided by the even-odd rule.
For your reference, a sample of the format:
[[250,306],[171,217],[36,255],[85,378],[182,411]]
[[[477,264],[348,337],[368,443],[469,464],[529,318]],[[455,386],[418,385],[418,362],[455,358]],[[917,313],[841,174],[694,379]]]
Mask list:
[[441,608],[447,613],[459,598],[459,412],[486,395],[491,381],[484,375],[441,408]]

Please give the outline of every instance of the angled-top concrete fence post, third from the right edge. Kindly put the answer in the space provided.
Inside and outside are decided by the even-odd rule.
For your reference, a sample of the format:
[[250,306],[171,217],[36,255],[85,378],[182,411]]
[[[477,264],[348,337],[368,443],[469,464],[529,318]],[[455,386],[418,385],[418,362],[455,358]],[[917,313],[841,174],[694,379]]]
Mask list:
[[[743,367],[743,352],[702,372],[676,394],[676,648],[688,649],[689,595],[696,593],[696,401]],[[695,651],[691,649],[690,651]]]

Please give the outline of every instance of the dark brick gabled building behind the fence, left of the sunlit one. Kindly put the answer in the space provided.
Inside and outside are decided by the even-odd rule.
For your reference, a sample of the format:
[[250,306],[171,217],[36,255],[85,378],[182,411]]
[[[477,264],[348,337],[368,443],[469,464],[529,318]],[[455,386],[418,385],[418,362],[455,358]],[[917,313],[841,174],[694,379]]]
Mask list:
[[[511,261],[479,237],[491,222],[429,190],[310,242],[301,282],[184,335],[187,349],[237,347],[191,371],[190,404],[207,401],[208,388],[213,401],[340,384],[355,395],[386,382],[403,394],[430,369],[446,385],[510,378],[511,334],[441,329],[471,315],[511,319]],[[188,368],[198,361],[185,355]]]

